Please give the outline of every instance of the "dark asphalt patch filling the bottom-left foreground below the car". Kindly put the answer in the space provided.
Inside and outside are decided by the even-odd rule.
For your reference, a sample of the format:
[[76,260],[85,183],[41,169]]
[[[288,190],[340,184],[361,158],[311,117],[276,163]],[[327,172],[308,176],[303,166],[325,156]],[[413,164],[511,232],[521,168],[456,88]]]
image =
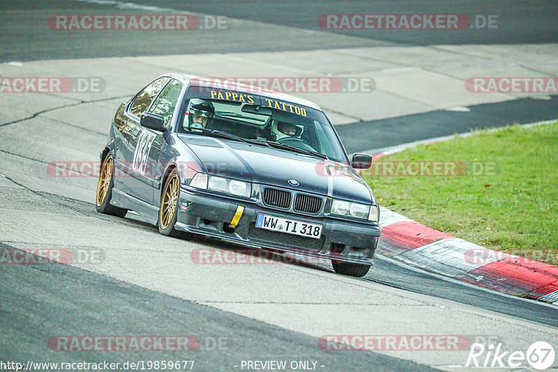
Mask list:
[[[10,248],[1,245],[1,248]],[[315,360],[327,371],[430,371],[384,355],[317,348],[314,337],[282,330],[193,302],[162,295],[68,265],[10,265],[2,270],[0,359],[36,362],[126,362],[153,360],[149,353],[79,352],[52,355],[45,340],[54,334],[197,335],[199,349],[180,353],[197,371],[231,371],[241,360]],[[38,296],[37,294],[40,295]],[[8,325],[13,325],[8,327]],[[32,346],[22,350],[22,346]],[[229,351],[234,350],[234,351]],[[147,354],[147,355],[146,355]],[[176,352],[158,352],[176,360]]]

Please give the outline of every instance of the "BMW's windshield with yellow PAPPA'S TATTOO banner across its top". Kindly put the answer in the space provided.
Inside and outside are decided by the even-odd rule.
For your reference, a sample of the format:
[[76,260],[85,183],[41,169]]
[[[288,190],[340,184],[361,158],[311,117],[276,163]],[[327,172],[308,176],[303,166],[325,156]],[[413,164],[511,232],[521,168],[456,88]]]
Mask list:
[[232,140],[237,137],[250,144],[347,162],[345,150],[322,111],[255,94],[190,88],[178,131]]

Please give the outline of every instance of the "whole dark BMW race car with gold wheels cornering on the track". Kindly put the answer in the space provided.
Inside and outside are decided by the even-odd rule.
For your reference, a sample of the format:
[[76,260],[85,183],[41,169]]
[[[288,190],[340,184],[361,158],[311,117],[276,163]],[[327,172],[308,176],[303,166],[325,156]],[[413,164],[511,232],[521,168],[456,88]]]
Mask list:
[[114,115],[98,212],[134,210],[163,235],[202,234],[331,260],[363,277],[379,206],[316,104],[244,84],[169,74]]

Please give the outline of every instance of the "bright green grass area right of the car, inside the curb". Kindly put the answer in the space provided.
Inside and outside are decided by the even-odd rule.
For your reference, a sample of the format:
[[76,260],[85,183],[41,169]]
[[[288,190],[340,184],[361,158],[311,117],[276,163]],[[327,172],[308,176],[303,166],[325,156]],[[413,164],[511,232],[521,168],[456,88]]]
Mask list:
[[558,123],[409,148],[363,176],[394,212],[483,247],[558,264]]

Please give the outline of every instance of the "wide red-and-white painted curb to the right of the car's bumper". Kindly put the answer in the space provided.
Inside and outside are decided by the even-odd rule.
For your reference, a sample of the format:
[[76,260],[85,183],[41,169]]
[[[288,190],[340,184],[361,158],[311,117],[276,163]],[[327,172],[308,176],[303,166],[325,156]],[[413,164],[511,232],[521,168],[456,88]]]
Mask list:
[[558,304],[558,268],[486,249],[381,207],[378,251],[492,290]]

